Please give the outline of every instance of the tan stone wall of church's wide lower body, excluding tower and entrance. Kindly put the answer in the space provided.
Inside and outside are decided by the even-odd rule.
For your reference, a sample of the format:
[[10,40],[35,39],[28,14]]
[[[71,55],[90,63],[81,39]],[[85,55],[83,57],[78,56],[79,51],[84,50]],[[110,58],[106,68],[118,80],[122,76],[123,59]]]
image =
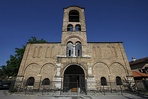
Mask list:
[[[105,77],[115,82],[117,76],[122,80],[131,76],[131,70],[122,43],[88,43],[82,46],[82,57],[66,57],[66,46],[60,43],[28,44],[20,65],[18,78],[35,81],[49,78],[62,80],[64,70],[70,65],[84,69],[85,78],[90,83],[100,82]],[[41,75],[42,77],[40,78]],[[96,86],[96,85],[94,85]]]

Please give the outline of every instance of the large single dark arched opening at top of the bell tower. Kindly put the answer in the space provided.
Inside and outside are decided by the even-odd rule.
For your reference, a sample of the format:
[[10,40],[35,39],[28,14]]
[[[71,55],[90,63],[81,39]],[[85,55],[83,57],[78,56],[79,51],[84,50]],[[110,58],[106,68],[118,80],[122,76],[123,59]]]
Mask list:
[[69,12],[69,22],[79,22],[79,12],[77,10]]

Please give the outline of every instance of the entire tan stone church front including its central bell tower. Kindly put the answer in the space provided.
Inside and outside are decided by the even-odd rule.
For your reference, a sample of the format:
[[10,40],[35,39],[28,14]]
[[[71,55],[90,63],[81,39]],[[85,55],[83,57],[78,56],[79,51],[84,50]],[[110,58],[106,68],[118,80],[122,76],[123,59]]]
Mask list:
[[[132,80],[122,42],[87,42],[84,8],[64,8],[61,42],[27,44],[16,86],[97,90]],[[35,83],[39,82],[39,83]]]

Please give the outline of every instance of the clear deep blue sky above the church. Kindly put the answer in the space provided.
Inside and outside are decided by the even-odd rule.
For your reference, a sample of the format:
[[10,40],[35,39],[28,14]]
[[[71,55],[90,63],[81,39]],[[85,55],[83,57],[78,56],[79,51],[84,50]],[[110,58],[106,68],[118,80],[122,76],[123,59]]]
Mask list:
[[32,36],[61,42],[72,5],[85,8],[88,42],[123,42],[129,61],[148,57],[148,0],[0,0],[0,66]]

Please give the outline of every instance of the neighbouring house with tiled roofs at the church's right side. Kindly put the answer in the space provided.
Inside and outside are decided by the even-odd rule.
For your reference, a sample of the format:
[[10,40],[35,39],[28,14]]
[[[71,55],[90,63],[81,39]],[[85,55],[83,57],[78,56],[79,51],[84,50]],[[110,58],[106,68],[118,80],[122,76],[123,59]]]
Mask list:
[[137,88],[139,90],[148,90],[148,57],[133,58],[129,63]]

